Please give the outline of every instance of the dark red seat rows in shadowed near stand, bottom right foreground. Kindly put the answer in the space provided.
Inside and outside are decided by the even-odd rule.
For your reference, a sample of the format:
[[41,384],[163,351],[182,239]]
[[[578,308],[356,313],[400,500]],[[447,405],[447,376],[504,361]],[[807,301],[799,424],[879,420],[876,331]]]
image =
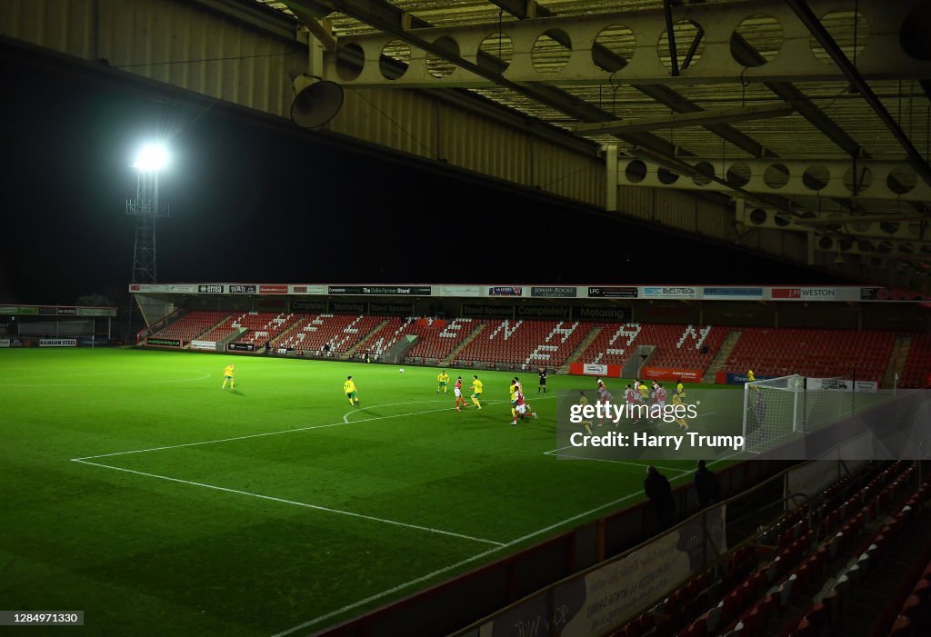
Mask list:
[[[920,530],[911,530],[911,544],[924,547],[920,559],[898,590],[880,583],[869,591],[871,603],[877,596],[887,602],[884,613],[871,629],[870,621],[850,617],[863,604],[856,592],[882,576],[890,551],[916,524],[917,511],[931,495],[931,482],[913,486],[917,473],[903,460],[863,465],[730,551],[717,569],[644,609],[612,637],[927,634],[920,629],[929,618],[931,540]],[[906,564],[911,561],[911,545],[897,551]],[[924,577],[928,581],[922,583]],[[871,606],[864,613],[870,617]]]

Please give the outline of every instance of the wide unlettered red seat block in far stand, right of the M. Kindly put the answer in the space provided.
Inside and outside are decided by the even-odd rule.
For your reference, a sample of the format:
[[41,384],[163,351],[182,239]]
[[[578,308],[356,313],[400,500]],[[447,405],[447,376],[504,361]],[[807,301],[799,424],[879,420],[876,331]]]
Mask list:
[[857,380],[880,383],[895,340],[893,332],[747,327],[723,369],[814,378],[850,378],[856,372]]

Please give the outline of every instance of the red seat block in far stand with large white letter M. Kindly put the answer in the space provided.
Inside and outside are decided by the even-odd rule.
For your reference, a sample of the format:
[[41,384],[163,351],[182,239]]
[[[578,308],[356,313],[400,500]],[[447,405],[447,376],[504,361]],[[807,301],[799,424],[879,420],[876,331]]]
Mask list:
[[624,365],[635,348],[653,345],[656,349],[649,365],[704,371],[721,348],[727,333],[726,327],[711,325],[603,325],[598,337],[582,353],[580,362]]

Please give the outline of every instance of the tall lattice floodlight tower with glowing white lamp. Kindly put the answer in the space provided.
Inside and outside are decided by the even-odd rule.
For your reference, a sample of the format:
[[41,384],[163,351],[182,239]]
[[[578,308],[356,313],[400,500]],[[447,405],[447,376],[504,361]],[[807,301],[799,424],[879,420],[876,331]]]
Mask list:
[[158,201],[158,173],[168,164],[168,152],[149,144],[132,165],[138,182],[136,198],[126,202],[126,214],[136,218],[136,246],[132,259],[132,283],[155,283],[155,226],[169,216],[169,205]]

